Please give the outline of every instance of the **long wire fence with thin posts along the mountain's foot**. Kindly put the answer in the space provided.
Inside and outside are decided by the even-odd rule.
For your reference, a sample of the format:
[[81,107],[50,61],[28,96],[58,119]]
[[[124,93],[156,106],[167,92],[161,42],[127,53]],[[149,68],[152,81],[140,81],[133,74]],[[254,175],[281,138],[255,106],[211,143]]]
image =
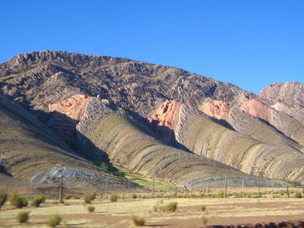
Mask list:
[[87,193],[96,193],[101,198],[109,198],[111,194],[120,194],[124,198],[139,197],[302,197],[304,187],[291,187],[288,183],[280,184],[265,179],[242,179],[227,177],[209,177],[206,179],[193,179],[183,188],[171,180],[170,191],[154,189],[154,178],[151,188],[138,188],[133,179],[119,180],[116,177],[104,179],[90,179],[85,176],[77,180],[66,177],[49,177],[45,183],[37,182],[8,182],[0,184],[10,196],[14,191],[18,194],[32,198],[43,195],[62,201],[63,198],[84,198]]

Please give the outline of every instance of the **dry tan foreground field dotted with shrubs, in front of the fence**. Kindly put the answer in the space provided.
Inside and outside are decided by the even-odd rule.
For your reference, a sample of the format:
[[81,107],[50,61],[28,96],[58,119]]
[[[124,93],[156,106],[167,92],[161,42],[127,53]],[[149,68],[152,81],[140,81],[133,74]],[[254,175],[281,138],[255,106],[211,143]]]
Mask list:
[[[153,206],[177,202],[176,212],[154,212]],[[206,227],[214,225],[255,224],[304,219],[303,198],[137,198],[92,201],[95,212],[89,213],[83,200],[66,200],[63,204],[47,201],[39,208],[14,209],[6,203],[0,209],[1,227],[46,227],[49,215],[58,213],[63,222],[59,227],[135,227],[132,215],[145,217],[147,227]],[[205,205],[206,210],[200,211]],[[30,210],[25,224],[18,224],[16,215]],[[202,224],[205,216],[207,224]]]

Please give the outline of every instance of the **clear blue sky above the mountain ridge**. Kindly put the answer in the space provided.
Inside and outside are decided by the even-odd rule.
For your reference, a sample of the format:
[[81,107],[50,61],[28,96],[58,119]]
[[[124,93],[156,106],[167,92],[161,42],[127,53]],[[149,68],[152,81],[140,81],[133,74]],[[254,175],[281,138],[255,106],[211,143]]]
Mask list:
[[59,50],[172,65],[255,94],[304,83],[304,1],[0,0],[0,63]]

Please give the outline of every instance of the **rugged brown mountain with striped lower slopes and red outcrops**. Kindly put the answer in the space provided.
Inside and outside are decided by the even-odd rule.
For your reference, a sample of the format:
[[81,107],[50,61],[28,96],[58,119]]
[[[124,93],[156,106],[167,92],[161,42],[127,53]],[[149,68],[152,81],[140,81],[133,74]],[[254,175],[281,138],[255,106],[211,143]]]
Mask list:
[[[2,63],[0,83],[1,100],[11,103],[1,106],[8,118],[1,126],[16,113],[22,126],[28,123],[24,115],[35,120],[35,126],[30,122],[35,137],[27,140],[43,138],[61,155],[73,155],[73,165],[60,158],[64,167],[94,171],[87,160],[105,161],[184,187],[211,177],[303,180],[304,101],[298,82],[271,85],[257,96],[174,67],[41,51]],[[20,111],[9,113],[10,106]],[[23,135],[20,125],[14,137]],[[4,146],[10,128],[2,128]],[[29,160],[44,163],[44,158],[37,148],[14,153],[28,154],[17,164],[1,150],[3,169],[16,177],[59,166],[21,175],[16,165],[26,170]]]

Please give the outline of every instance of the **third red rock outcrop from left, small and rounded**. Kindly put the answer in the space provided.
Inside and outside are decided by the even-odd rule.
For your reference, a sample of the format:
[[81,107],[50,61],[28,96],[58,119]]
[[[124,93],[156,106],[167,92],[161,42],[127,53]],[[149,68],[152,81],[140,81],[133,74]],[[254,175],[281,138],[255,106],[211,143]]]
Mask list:
[[202,111],[212,118],[226,120],[230,108],[229,104],[224,101],[212,101],[206,102],[202,107]]

